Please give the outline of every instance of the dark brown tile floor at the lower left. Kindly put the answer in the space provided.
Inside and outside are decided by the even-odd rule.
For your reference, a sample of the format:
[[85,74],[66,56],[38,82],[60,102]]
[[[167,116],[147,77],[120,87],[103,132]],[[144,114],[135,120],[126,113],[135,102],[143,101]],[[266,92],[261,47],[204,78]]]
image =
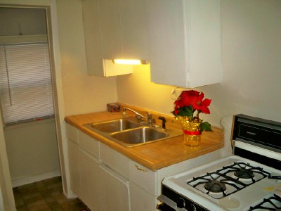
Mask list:
[[18,211],[89,211],[79,198],[65,198],[61,177],[18,186],[13,193]]

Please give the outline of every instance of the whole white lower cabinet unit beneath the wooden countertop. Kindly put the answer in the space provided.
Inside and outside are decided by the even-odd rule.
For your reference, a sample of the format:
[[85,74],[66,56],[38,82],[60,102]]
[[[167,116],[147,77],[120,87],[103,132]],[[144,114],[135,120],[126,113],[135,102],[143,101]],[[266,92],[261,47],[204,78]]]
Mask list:
[[155,211],[164,177],[210,160],[152,171],[70,125],[67,139],[70,187],[92,211]]

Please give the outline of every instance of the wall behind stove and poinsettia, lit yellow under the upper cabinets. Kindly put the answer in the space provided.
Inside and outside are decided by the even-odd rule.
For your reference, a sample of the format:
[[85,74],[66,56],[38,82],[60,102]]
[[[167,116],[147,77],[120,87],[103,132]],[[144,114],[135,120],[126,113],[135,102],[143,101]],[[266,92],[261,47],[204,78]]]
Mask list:
[[[281,122],[281,1],[222,0],[221,27],[223,82],[196,89],[212,99],[211,115],[202,118],[219,125],[225,115],[244,113]],[[138,67],[133,75],[118,77],[119,101],[169,114],[174,87],[151,83],[149,71]],[[224,156],[230,153],[232,117],[222,124]]]

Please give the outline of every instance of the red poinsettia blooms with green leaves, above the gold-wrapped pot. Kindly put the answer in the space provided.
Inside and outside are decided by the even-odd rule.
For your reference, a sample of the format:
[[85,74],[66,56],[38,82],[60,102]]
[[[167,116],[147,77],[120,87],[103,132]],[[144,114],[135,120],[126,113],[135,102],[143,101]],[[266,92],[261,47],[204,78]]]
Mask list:
[[200,113],[210,113],[208,107],[211,104],[211,100],[203,98],[203,92],[200,93],[195,90],[182,91],[181,95],[178,96],[174,102],[174,111],[171,113],[173,113],[176,117],[185,117],[189,122],[201,122],[201,131],[212,131],[211,124],[209,124],[209,122],[203,122],[199,118]]

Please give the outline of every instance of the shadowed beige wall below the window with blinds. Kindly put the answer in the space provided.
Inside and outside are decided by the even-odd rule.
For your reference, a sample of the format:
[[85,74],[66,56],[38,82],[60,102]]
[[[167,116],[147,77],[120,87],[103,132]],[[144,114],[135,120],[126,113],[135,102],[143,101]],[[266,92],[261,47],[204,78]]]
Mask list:
[[13,186],[60,175],[53,118],[8,127],[4,135]]

